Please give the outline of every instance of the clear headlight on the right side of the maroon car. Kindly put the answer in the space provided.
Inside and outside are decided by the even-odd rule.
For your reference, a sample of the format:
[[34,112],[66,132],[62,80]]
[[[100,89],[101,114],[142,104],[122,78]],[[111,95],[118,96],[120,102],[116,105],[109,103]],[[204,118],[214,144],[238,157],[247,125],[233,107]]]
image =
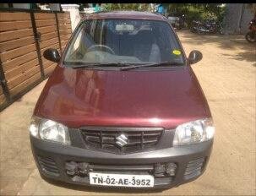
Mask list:
[[173,145],[195,144],[213,138],[215,127],[211,118],[184,123],[177,126]]

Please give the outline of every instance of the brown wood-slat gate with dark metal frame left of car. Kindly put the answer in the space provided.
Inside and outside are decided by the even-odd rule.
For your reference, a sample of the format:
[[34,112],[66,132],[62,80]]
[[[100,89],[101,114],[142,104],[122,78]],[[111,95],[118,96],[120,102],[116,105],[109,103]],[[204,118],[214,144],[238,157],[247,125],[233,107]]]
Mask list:
[[69,13],[0,8],[0,111],[46,79],[56,67],[43,52],[63,52]]

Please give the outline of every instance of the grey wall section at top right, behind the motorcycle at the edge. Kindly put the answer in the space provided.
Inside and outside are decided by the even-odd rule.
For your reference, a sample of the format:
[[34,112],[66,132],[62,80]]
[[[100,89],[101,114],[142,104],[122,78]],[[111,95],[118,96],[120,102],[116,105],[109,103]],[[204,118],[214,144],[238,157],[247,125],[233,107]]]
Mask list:
[[253,19],[253,12],[246,3],[227,3],[224,31],[227,34],[245,34],[248,23]]

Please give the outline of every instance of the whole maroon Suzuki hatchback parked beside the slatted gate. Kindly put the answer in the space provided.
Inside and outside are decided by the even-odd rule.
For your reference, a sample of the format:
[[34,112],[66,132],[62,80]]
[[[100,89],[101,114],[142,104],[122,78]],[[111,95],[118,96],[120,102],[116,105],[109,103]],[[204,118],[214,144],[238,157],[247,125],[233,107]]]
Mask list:
[[168,20],[92,14],[78,24],[35,106],[30,143],[42,177],[92,186],[171,188],[210,159],[210,109]]

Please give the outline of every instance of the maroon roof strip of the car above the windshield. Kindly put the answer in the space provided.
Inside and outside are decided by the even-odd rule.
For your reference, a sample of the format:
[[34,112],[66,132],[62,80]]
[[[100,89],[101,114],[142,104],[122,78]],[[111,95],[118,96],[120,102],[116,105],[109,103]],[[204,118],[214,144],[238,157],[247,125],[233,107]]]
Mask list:
[[157,19],[166,20],[161,14],[139,11],[112,11],[89,14],[84,19]]

